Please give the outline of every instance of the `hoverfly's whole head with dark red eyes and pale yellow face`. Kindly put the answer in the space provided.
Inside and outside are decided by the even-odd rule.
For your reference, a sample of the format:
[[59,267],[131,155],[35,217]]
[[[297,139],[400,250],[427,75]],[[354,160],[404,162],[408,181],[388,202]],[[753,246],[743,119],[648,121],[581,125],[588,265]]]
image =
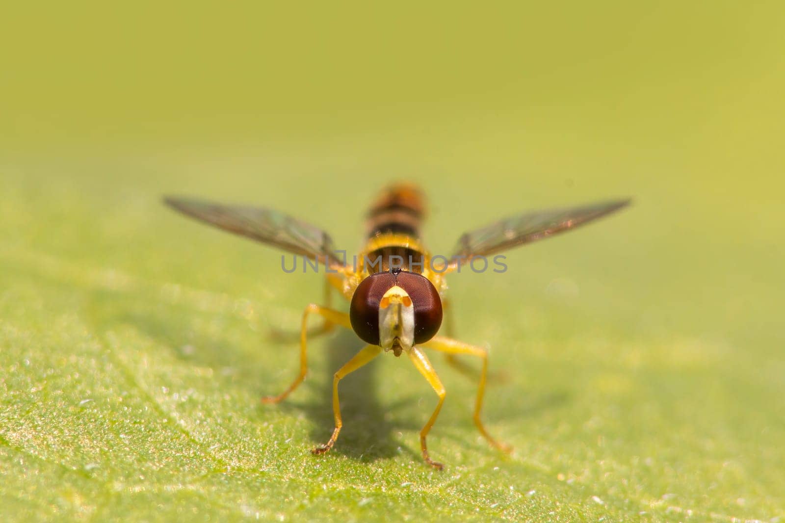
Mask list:
[[441,299],[425,276],[400,270],[379,272],[357,287],[349,319],[364,342],[400,356],[439,331]]

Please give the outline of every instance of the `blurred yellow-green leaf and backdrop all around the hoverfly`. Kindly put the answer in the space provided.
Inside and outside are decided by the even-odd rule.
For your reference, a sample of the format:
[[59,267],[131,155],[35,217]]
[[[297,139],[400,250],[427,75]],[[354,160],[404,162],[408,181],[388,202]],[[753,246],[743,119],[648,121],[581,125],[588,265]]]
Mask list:
[[[16,3],[0,20],[0,515],[5,521],[785,518],[785,5]],[[433,358],[346,379],[312,342],[319,276],[185,221],[163,193],[257,203],[360,245],[385,183],[425,240],[632,196],[449,280],[491,346],[506,458]],[[448,254],[448,253],[445,253]],[[735,519],[737,518],[737,519]]]

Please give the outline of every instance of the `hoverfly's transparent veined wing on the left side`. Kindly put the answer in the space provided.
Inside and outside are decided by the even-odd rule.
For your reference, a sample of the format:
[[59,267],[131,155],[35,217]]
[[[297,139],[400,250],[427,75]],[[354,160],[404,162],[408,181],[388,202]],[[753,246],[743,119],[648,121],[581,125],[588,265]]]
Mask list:
[[336,257],[333,240],[327,232],[277,210],[224,205],[174,196],[166,196],[163,201],[173,209],[219,229],[322,263],[344,265]]

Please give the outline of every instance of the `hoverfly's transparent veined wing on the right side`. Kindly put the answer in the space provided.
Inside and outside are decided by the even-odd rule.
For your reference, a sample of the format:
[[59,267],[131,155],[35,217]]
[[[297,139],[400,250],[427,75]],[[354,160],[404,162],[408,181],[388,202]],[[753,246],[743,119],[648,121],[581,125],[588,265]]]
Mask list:
[[466,263],[475,256],[496,254],[517,245],[542,240],[558,232],[575,229],[629,204],[629,199],[619,199],[579,207],[539,210],[497,221],[464,233],[455,246],[451,265]]

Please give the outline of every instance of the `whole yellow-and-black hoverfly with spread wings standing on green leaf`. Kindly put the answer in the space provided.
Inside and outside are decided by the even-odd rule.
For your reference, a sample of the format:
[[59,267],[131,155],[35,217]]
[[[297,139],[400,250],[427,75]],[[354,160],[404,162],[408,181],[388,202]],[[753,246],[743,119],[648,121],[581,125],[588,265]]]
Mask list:
[[[630,200],[625,199],[517,214],[463,234],[458,239],[454,255],[451,258],[440,257],[444,258],[445,263],[439,266],[434,265],[433,258],[436,257],[432,258],[420,238],[425,207],[422,193],[414,185],[392,185],[378,197],[367,213],[365,247],[357,257],[359,262],[352,264],[338,258],[327,232],[276,210],[176,197],[167,197],[165,201],[170,207],[220,229],[323,263],[328,269],[326,299],[329,298],[330,287],[334,287],[349,300],[348,314],[332,309],[329,302],[326,305],[312,303],[305,307],[300,331],[300,371],[283,393],[262,399],[265,403],[278,403],[305,379],[308,371],[309,316],[316,314],[322,317],[320,332],[339,325],[352,329],[367,343],[334,374],[335,427],[330,440],[314,448],[313,454],[328,452],[341,432],[343,422],[338,401],[338,383],[341,379],[382,352],[392,352],[396,357],[406,353],[439,397],[433,414],[420,431],[422,457],[436,469],[442,469],[443,465],[431,459],[425,438],[442,408],[445,391],[425,349],[447,354],[447,362],[458,368],[458,355],[480,358],[482,366],[474,404],[474,424],[492,446],[502,452],[511,450],[492,437],[480,419],[487,382],[487,349],[437,335],[442,316],[449,306],[444,296],[447,289],[444,276],[476,257],[496,254],[510,247],[574,229],[630,203]],[[392,263],[393,258],[398,263]],[[449,324],[446,327],[449,331]]]

